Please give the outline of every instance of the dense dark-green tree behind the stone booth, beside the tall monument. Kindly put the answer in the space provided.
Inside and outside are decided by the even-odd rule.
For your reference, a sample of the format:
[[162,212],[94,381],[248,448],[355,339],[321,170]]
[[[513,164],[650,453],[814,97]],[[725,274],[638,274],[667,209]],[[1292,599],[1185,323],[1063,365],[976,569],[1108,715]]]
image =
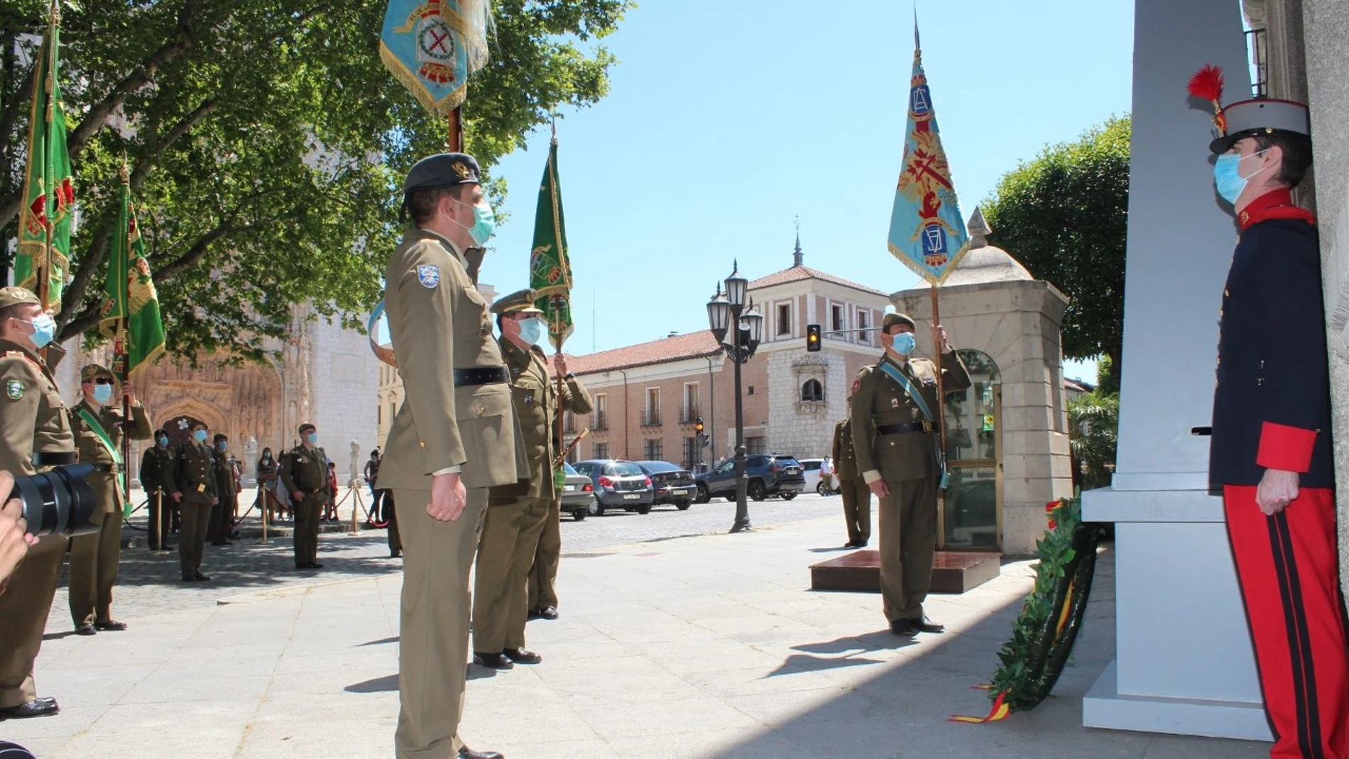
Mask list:
[[1129,117],[1112,117],[1075,143],[1045,147],[1035,160],[1004,175],[979,208],[993,228],[989,241],[1070,298],[1063,317],[1064,356],[1108,356],[1118,377]]

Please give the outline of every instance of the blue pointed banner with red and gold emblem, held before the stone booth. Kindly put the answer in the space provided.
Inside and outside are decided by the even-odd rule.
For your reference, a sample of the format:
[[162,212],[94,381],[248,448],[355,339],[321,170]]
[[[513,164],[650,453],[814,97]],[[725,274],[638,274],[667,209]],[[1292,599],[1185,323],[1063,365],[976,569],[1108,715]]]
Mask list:
[[936,128],[916,22],[907,135],[890,212],[890,252],[923,279],[940,284],[969,249],[970,239]]

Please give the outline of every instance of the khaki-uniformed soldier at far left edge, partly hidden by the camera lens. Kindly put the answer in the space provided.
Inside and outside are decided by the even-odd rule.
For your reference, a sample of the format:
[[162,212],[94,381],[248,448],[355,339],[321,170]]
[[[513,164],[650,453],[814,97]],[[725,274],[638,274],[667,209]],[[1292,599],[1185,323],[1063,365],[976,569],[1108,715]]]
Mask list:
[[[0,289],[0,469],[15,476],[76,462],[66,406],[51,376],[65,356],[51,344],[54,334],[55,324],[36,295],[23,287]],[[50,364],[38,355],[40,348]],[[55,698],[38,698],[32,665],[65,555],[65,535],[43,537],[0,593],[0,720],[59,710]]]

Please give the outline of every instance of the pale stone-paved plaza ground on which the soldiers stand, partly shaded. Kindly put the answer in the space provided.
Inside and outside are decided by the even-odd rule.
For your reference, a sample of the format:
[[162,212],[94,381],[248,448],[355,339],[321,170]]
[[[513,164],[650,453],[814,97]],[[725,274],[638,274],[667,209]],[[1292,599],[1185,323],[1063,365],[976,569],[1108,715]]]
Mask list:
[[[811,592],[838,555],[836,497],[564,520],[561,619],[532,621],[544,663],[469,670],[463,735],[509,759],[893,759],[947,756],[1245,759],[1268,744],[1081,727],[1081,697],[1113,655],[1113,561],[1056,696],[993,725],[985,681],[1031,586],[1031,565],[935,597],[942,636],[889,635],[880,597]],[[707,533],[707,534],[699,534]],[[674,539],[654,539],[674,535]],[[398,713],[399,562],[383,533],[328,534],[320,573],[289,539],[208,549],[208,585],[174,557],[128,551],[121,634],[70,635],[63,590],[38,659],[55,717],[0,723],[43,759],[375,758]],[[163,565],[161,568],[161,565]],[[219,604],[216,603],[219,601]]]

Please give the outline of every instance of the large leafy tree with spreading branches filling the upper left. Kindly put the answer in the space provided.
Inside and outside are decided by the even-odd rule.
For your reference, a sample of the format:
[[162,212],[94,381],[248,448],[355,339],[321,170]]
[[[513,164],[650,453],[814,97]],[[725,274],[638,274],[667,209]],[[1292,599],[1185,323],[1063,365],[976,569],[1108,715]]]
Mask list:
[[[0,226],[15,235],[46,0],[0,0]],[[445,124],[379,61],[383,0],[80,0],[62,80],[82,220],[61,338],[92,328],[117,167],[131,164],[171,352],[256,359],[291,305],[357,326],[399,228],[398,186]],[[595,40],[630,0],[496,0],[491,61],[469,81],[484,169],[561,107],[607,93]],[[494,191],[502,193],[500,182]],[[8,249],[8,248],[5,248]],[[8,262],[5,262],[7,264]]]

